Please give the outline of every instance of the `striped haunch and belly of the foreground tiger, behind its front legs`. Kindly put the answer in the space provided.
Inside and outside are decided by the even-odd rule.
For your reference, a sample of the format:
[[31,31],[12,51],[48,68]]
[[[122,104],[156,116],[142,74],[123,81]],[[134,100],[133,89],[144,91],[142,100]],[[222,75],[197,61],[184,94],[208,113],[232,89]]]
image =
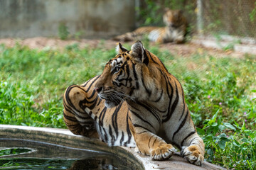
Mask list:
[[65,90],[65,124],[75,135],[100,137],[109,146],[135,147],[127,121],[127,103],[123,102],[115,108],[105,107],[104,100],[93,90],[99,78],[94,77],[85,84],[72,85]]

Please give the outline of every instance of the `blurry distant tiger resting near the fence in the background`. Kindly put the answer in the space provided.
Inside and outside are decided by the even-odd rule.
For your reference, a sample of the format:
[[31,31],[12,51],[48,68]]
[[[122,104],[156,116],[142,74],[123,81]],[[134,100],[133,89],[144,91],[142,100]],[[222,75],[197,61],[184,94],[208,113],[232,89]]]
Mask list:
[[133,41],[142,40],[146,36],[150,41],[157,43],[183,43],[185,41],[186,29],[188,22],[181,10],[171,10],[166,8],[163,20],[165,27],[156,26],[145,26],[137,28],[133,32],[125,33],[123,35],[118,35],[112,40],[118,41]]

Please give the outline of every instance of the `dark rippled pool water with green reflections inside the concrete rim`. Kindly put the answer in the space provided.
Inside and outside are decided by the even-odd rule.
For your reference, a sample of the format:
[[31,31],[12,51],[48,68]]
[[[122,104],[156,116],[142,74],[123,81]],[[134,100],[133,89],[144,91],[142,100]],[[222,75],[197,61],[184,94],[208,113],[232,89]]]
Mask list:
[[0,169],[137,169],[124,157],[46,142],[0,138]]

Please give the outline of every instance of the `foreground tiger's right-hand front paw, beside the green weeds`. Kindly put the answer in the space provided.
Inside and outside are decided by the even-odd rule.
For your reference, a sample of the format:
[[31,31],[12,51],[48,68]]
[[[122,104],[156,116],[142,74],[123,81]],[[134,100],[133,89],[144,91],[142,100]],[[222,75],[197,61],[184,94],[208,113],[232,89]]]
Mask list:
[[196,145],[190,147],[182,147],[181,157],[184,157],[191,164],[196,164],[201,166],[203,163],[203,155],[200,152],[200,149]]

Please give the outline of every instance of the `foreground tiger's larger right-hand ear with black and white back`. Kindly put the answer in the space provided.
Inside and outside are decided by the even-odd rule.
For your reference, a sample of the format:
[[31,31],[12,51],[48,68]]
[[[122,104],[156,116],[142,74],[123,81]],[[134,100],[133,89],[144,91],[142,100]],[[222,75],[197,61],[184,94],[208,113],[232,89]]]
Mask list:
[[132,45],[131,47],[132,49],[132,57],[134,57],[135,60],[137,60],[138,62],[143,62],[144,64],[148,64],[149,63],[149,59],[146,56],[145,53],[145,48],[143,47],[143,44],[141,41],[137,41],[134,43],[134,45]]

